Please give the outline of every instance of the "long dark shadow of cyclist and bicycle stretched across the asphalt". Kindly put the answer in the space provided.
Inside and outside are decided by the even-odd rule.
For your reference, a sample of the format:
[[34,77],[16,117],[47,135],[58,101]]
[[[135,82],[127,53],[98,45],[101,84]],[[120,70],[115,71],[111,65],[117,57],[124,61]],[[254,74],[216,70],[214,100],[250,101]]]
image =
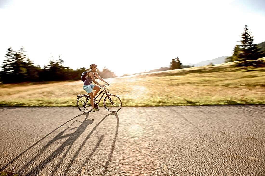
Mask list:
[[[23,167],[18,171],[18,173],[25,173],[26,175],[38,175],[49,163],[51,162],[55,162],[56,166],[54,167],[54,170],[52,172],[51,175],[55,175],[57,169],[59,168],[59,166],[61,165],[62,161],[66,158],[66,155],[68,154],[69,150],[72,148],[74,142],[80,137],[80,135],[82,135],[82,133],[86,130],[87,126],[89,124],[92,124],[94,119],[88,119],[87,117],[89,116],[88,113],[83,113],[80,114],[74,118],[72,118],[71,120],[69,120],[68,122],[72,121],[73,119],[80,117],[81,115],[86,115],[85,119],[83,120],[83,122],[80,122],[78,120],[74,120],[69,127],[65,128],[63,131],[59,132],[55,137],[53,137],[50,141],[48,141],[41,149],[38,150],[38,152],[36,152],[33,156],[33,158],[28,161],[25,165],[23,165]],[[78,150],[76,150],[76,154],[73,156],[72,160],[70,162],[68,162],[69,164],[66,166],[66,169],[64,169],[64,174],[63,175],[67,175],[67,173],[69,172],[69,169],[71,168],[74,160],[77,158],[79,152],[82,150],[83,146],[85,145],[85,143],[87,142],[88,138],[90,137],[90,135],[94,132],[97,131],[96,128],[99,126],[99,124],[105,120],[109,115],[115,115],[116,119],[117,119],[117,126],[116,126],[116,135],[114,137],[114,141],[113,141],[113,145],[111,148],[111,152],[109,154],[105,169],[103,170],[103,175],[105,173],[105,171],[108,168],[108,164],[109,161],[111,160],[111,156],[112,156],[112,152],[114,150],[114,145],[116,142],[116,138],[117,138],[117,132],[118,132],[118,115],[117,113],[109,113],[108,115],[106,115],[103,119],[101,119],[101,121],[96,124],[96,126],[90,131],[90,133],[87,135],[87,137],[85,138],[85,140],[83,141],[83,143],[81,144],[81,146],[78,148]],[[62,124],[60,127],[64,126],[65,124],[67,124],[68,122]],[[76,123],[81,123],[80,126],[73,126],[73,124]],[[51,133],[55,132],[57,129],[59,129],[60,127],[56,128],[55,130],[53,130],[52,132],[50,132],[48,135],[50,135]],[[72,127],[72,128],[71,128]],[[75,130],[72,133],[69,133],[70,131]],[[68,132],[68,133],[67,133]],[[45,137],[43,137],[42,139],[40,139],[38,142],[34,143],[32,146],[30,146],[27,150],[25,150],[24,152],[22,152],[19,156],[17,156],[15,159],[13,159],[12,161],[10,161],[8,164],[6,164],[1,170],[5,169],[8,165],[10,165],[12,162],[14,162],[16,159],[18,159],[20,156],[22,156],[23,154],[25,154],[27,151],[29,151],[30,149],[32,149],[33,146],[35,146],[37,143],[39,143],[40,141],[42,141],[44,138],[46,138],[48,135],[46,135]],[[83,166],[87,164],[87,162],[89,161],[89,158],[93,155],[94,151],[99,147],[100,143],[102,142],[104,135],[99,136],[98,138],[98,144],[95,146],[94,150],[92,150],[91,154],[87,157],[86,161],[83,163]],[[56,144],[56,142],[60,142],[60,140],[66,139],[57,149],[55,149],[49,156],[47,156],[41,163],[38,163],[37,165],[34,165],[34,162],[37,161],[37,159],[43,157],[44,152],[48,151],[48,147],[52,147],[53,145]],[[63,155],[63,156],[61,156]],[[58,158],[60,157],[60,160],[57,161]],[[30,170],[29,170],[30,168]],[[63,167],[65,168],[65,167]],[[63,169],[62,168],[62,169]],[[81,168],[81,167],[80,167]],[[29,171],[28,171],[29,170]]]

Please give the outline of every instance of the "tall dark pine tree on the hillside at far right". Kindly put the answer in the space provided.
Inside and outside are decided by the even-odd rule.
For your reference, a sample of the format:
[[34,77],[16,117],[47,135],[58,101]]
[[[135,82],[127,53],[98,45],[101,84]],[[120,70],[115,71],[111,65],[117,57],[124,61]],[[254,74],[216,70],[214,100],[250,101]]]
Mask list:
[[236,66],[246,68],[248,66],[259,67],[264,65],[264,62],[259,58],[264,57],[264,53],[261,52],[261,48],[257,44],[253,44],[254,36],[248,31],[248,26],[244,28],[244,32],[241,34],[241,45],[234,49],[234,59]]

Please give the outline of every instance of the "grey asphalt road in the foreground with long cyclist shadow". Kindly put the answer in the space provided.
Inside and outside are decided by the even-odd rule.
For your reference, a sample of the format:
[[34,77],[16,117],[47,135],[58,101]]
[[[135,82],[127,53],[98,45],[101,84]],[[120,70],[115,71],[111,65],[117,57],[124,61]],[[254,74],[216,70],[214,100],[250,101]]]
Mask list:
[[24,175],[265,175],[265,106],[0,108],[0,168]]

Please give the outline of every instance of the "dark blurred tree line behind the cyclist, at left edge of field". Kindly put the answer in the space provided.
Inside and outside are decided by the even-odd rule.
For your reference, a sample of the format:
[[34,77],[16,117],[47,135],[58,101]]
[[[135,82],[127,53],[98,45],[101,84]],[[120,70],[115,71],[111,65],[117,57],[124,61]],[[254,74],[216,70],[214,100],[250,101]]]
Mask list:
[[[34,65],[27,54],[25,54],[23,47],[19,51],[14,51],[9,47],[5,57],[6,60],[1,66],[2,71],[0,72],[1,82],[4,84],[27,81],[81,80],[82,73],[87,70],[85,67],[73,70],[70,67],[64,66],[61,55],[59,55],[58,59],[51,57],[48,59],[48,64],[44,68],[41,68]],[[115,73],[105,67],[102,71],[97,70],[97,73],[103,78],[117,77]]]

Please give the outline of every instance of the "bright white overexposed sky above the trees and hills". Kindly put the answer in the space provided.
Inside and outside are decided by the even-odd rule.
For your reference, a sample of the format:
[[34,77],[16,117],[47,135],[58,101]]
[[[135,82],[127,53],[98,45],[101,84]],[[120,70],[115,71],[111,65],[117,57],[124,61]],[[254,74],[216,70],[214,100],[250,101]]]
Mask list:
[[[251,3],[249,5],[249,3]],[[116,75],[232,55],[244,26],[265,41],[264,0],[0,0],[0,63],[21,46],[36,65],[61,55]],[[1,63],[2,65],[2,63]]]

